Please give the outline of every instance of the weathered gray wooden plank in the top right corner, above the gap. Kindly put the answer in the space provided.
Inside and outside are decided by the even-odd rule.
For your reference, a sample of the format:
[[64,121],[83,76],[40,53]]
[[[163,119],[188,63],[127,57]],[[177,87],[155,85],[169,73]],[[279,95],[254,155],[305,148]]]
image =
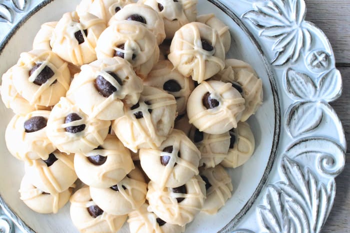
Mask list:
[[306,20],[327,35],[337,63],[350,63],[350,1],[305,0]]

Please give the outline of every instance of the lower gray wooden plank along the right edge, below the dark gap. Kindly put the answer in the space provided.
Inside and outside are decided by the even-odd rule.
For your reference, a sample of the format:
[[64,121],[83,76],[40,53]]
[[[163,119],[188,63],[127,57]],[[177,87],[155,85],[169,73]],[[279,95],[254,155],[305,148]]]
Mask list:
[[[350,45],[349,45],[350,46]],[[347,145],[350,140],[350,68],[338,67],[343,78],[343,93],[339,99],[331,103],[340,118],[346,136]],[[350,148],[347,149],[344,171],[335,178],[336,195],[330,215],[323,227],[323,233],[350,232]]]

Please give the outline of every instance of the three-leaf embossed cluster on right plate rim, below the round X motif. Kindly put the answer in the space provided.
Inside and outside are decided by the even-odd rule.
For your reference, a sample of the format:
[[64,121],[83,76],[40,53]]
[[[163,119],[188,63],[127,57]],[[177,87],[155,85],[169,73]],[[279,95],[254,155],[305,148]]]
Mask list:
[[287,129],[296,137],[319,126],[326,111],[330,107],[327,102],[339,97],[341,76],[338,70],[332,69],[319,78],[317,85],[306,74],[294,69],[286,71],[287,91],[297,101],[287,111]]

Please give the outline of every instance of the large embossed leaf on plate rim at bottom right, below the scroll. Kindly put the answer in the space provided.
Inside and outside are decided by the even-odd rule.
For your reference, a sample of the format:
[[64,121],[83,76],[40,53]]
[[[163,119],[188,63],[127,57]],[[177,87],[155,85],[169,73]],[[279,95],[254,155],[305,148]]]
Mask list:
[[268,186],[267,204],[259,206],[263,226],[272,233],[319,232],[332,206],[334,179],[324,184],[287,157],[281,167],[286,182]]

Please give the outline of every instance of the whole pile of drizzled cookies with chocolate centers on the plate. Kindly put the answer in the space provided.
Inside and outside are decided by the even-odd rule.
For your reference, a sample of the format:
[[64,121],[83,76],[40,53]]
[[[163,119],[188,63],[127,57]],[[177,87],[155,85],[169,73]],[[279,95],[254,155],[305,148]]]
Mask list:
[[56,213],[70,200],[80,232],[116,232],[128,218],[132,233],[177,233],[231,197],[223,167],[254,151],[245,121],[262,82],[225,60],[228,27],[196,4],[82,0],[41,25],[0,89],[30,209]]

